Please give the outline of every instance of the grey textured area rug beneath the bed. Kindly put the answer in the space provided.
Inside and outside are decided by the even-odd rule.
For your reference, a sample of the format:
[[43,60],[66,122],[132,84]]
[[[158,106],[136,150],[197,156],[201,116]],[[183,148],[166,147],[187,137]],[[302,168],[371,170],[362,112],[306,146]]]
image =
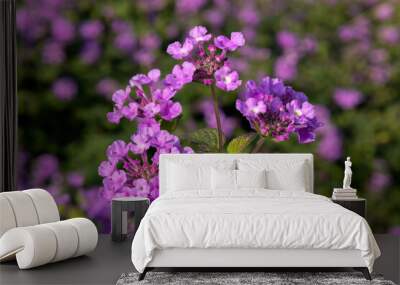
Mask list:
[[138,276],[138,273],[122,274],[117,285],[395,284],[379,275],[372,275],[373,280],[368,281],[359,272],[148,272],[142,281],[137,280]]

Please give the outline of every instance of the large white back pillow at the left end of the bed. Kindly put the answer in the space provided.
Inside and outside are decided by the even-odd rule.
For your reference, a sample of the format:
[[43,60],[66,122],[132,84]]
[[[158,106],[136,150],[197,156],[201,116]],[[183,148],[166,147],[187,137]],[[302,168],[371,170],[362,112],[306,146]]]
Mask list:
[[168,164],[168,191],[211,189],[211,167]]

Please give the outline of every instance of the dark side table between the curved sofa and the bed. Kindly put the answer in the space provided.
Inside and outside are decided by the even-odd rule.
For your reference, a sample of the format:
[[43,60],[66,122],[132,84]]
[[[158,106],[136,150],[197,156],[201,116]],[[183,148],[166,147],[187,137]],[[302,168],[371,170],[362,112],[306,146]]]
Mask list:
[[111,239],[123,241],[128,236],[128,212],[133,212],[135,236],[140,221],[146,214],[150,200],[143,197],[119,197],[113,198],[111,202]]

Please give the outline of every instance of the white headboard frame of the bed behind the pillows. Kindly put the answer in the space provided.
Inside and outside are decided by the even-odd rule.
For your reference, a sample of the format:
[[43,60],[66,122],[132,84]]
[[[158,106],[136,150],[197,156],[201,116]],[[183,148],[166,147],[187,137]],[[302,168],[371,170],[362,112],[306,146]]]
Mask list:
[[227,154],[227,153],[196,153],[196,154],[161,154],[160,155],[160,169],[159,169],[159,182],[160,182],[160,195],[166,192],[167,182],[167,165],[168,162],[188,162],[193,164],[203,164],[207,162],[219,160],[232,160],[238,159],[252,160],[252,159],[265,159],[268,161],[304,161],[306,163],[306,191],[314,192],[314,164],[313,155],[310,153],[260,153],[260,154]]

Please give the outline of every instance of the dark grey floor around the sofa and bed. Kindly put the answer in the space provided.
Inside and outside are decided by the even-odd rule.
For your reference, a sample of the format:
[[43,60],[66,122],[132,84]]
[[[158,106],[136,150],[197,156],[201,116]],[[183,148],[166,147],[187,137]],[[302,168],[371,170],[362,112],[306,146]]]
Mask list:
[[[374,272],[400,282],[400,238],[376,235],[382,251]],[[102,235],[97,249],[82,256],[42,267],[19,270],[15,262],[0,265],[0,284],[115,284],[124,272],[134,271],[130,260],[130,241],[114,243]],[[310,270],[312,271],[312,270]]]

